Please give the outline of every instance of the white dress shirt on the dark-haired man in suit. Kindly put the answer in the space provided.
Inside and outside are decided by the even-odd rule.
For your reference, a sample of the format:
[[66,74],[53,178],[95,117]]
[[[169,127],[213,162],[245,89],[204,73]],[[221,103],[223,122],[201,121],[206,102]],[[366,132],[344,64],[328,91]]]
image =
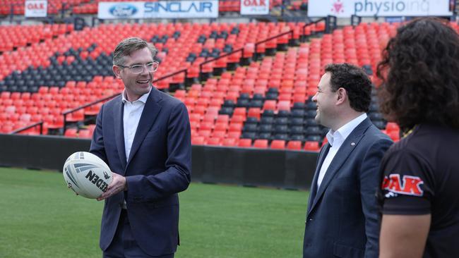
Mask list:
[[317,189],[321,187],[321,183],[328,169],[328,166],[330,166],[331,161],[333,161],[333,158],[340,149],[342,142],[346,140],[347,136],[349,136],[352,133],[352,131],[357,127],[357,125],[359,125],[359,123],[362,123],[362,121],[364,121],[365,118],[366,113],[362,113],[362,115],[357,116],[357,118],[354,118],[345,125],[342,125],[338,130],[333,132],[333,130],[330,129],[328,131],[326,137],[328,143],[330,144],[330,149],[328,150],[327,156],[323,160],[321,171],[319,171],[318,173]]

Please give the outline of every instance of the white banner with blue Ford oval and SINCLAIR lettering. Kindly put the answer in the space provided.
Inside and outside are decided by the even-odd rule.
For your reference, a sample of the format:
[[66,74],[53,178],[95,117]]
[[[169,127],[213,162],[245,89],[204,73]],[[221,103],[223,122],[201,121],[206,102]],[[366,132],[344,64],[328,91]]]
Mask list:
[[99,2],[97,18],[217,18],[218,0]]

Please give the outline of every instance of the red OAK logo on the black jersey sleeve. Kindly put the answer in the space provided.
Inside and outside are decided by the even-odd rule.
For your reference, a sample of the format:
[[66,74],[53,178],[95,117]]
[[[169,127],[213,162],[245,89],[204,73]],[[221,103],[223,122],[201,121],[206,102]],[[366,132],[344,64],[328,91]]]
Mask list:
[[400,195],[422,196],[423,183],[424,181],[418,176],[403,176],[403,180],[400,180],[400,174],[391,174],[384,177],[382,188]]

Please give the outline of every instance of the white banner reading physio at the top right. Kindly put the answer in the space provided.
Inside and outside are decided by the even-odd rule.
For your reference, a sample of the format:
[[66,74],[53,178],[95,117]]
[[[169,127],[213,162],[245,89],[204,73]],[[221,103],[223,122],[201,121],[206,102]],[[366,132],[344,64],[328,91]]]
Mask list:
[[308,16],[452,16],[449,0],[309,0]]

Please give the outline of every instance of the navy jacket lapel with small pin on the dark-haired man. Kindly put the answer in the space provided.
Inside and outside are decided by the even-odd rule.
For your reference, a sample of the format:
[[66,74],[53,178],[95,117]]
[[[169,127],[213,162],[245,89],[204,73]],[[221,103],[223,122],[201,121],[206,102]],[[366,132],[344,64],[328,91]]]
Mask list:
[[340,167],[342,166],[342,164],[345,163],[346,159],[350,156],[350,154],[355,149],[355,147],[359,145],[359,142],[360,140],[362,140],[364,132],[366,131],[367,128],[369,128],[370,125],[371,125],[371,121],[369,121],[369,119],[366,118],[364,121],[362,121],[362,123],[357,125],[357,127],[346,138],[346,140],[342,142],[340,149],[338,150],[336,155],[333,157],[333,160],[331,161],[330,166],[328,166],[325,176],[323,177],[321,186],[320,188],[318,188],[317,194],[314,197],[314,202],[312,203],[311,209],[309,209],[309,211],[314,209],[318,200],[321,199],[323,192],[325,192],[331,180],[335,177],[336,173],[338,173],[338,171],[340,170]]

